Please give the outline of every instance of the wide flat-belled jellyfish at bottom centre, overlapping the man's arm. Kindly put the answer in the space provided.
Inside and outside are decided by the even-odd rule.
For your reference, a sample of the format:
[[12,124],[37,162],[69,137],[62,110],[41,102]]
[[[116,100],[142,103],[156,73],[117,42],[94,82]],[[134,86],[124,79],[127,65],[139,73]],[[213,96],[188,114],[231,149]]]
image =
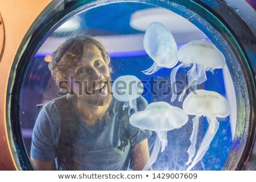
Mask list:
[[145,110],[138,111],[130,117],[131,125],[144,129],[155,131],[156,138],[152,149],[150,159],[144,166],[147,170],[156,160],[158,152],[167,146],[167,131],[178,129],[188,122],[188,115],[179,107],[172,106],[167,102],[152,102]]

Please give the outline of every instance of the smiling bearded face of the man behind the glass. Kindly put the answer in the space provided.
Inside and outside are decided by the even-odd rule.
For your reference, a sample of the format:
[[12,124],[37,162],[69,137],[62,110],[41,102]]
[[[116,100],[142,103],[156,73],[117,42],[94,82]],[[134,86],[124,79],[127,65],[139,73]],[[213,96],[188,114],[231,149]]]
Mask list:
[[71,89],[77,99],[98,106],[110,102],[109,67],[96,46],[92,45],[84,50],[82,59],[71,72]]

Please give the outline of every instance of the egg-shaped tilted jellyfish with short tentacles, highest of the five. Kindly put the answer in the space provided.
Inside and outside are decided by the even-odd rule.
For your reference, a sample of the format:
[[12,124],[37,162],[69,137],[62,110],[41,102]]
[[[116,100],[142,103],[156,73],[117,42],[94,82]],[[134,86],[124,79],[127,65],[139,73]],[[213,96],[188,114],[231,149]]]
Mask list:
[[177,64],[177,44],[171,32],[161,23],[153,22],[146,30],[143,46],[148,56],[154,60],[154,64],[142,71],[146,75],[152,75],[160,68],[172,68]]

